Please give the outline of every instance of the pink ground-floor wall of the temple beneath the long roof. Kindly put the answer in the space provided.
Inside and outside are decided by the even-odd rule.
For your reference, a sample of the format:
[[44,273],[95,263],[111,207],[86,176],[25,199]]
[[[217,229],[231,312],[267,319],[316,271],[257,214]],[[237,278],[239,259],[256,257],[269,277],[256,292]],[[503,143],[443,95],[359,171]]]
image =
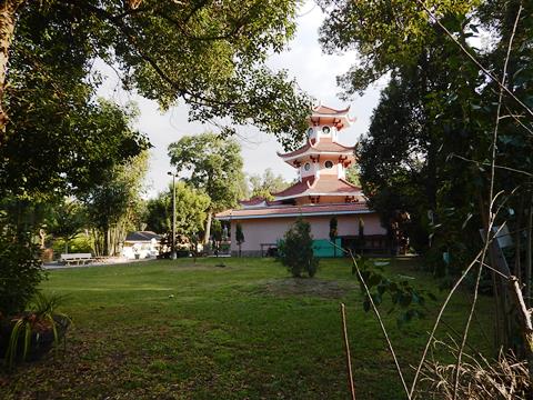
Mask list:
[[[376,213],[338,216],[338,234],[355,236],[359,234],[359,219],[364,221],[364,234],[385,234],[386,230],[381,227],[380,218]],[[311,223],[311,233],[314,239],[329,239],[331,217],[306,217]],[[241,223],[244,234],[244,243],[241,251],[260,251],[261,243],[275,243],[278,239],[289,230],[296,218],[265,218],[231,221],[231,250],[238,251],[235,241],[235,224]]]

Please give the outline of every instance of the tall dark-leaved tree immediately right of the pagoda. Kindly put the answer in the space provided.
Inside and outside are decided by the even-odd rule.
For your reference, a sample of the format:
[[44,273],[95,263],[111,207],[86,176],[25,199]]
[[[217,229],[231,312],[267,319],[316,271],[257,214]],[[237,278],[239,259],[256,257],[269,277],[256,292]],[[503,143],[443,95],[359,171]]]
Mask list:
[[[339,18],[325,21],[321,28],[325,50],[355,47],[363,60],[339,78],[345,96],[364,90],[385,72],[391,73],[369,133],[358,149],[362,186],[371,206],[380,211],[386,226],[402,224],[419,251],[428,249],[430,237],[436,239],[441,233],[447,239],[433,241],[439,243],[436,251],[452,242],[472,244],[477,238],[472,232],[467,232],[469,241],[457,241],[445,231],[460,232],[464,216],[477,202],[459,193],[467,190],[475,197],[481,189],[479,171],[457,167],[449,162],[449,157],[487,156],[487,132],[473,123],[475,118],[482,119],[472,100],[483,84],[476,66],[442,34],[418,2],[321,4],[339,13]],[[429,4],[439,22],[456,32],[469,49],[466,37],[475,26],[466,13],[475,6],[467,0]],[[342,29],[349,23],[348,30]],[[454,216],[452,209],[456,211]],[[447,229],[442,229],[444,226]],[[457,250],[464,252],[464,248]],[[461,258],[456,261],[460,268]]]

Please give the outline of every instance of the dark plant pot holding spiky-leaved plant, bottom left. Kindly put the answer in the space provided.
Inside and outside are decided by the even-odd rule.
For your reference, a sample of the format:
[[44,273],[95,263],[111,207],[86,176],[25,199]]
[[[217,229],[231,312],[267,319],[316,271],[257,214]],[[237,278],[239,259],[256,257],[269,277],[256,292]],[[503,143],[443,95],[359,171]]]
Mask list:
[[[70,320],[63,316],[53,316],[56,321],[56,330],[58,332],[58,342],[64,337],[70,326]],[[0,320],[0,359],[6,358],[6,353],[9,346],[9,339],[17,321],[12,321],[12,318],[4,318]],[[17,361],[22,361],[23,348],[24,348],[24,332],[19,333],[19,341],[17,343]],[[37,361],[48,353],[56,342],[53,329],[47,328],[40,332],[31,333],[30,348],[26,361]]]

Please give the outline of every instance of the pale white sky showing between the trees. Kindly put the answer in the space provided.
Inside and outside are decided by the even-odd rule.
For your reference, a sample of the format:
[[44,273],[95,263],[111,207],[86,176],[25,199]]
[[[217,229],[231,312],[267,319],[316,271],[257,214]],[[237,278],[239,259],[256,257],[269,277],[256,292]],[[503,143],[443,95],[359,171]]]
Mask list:
[[[302,90],[322,104],[332,108],[351,106],[350,113],[356,121],[342,131],[340,141],[353,146],[368,130],[383,82],[378,82],[369,88],[364,96],[355,97],[352,101],[341,101],[338,98],[341,89],[336,86],[336,76],[349,70],[356,61],[356,54],[348,52],[329,56],[322,52],[318,39],[319,28],[324,18],[313,1],[306,1],[299,11],[294,38],[285,51],[271,56],[268,63],[273,70],[286,69],[289,77],[295,79]],[[200,122],[189,122],[185,104],[179,104],[162,113],[154,101],[124,92],[114,71],[109,67],[101,66],[101,69],[108,78],[100,89],[100,96],[111,98],[119,104],[133,100],[139,106],[140,117],[135,128],[147,134],[153,146],[150,150],[150,169],[144,196],[155,197],[158,192],[168,188],[170,181],[167,172],[172,168],[168,146],[185,134],[198,134],[215,128]],[[276,151],[281,152],[282,148],[275,138],[254,127],[239,127],[238,131],[245,173],[262,174],[266,168],[271,168],[274,173],[281,173],[286,180],[296,178],[296,171],[276,156]]]

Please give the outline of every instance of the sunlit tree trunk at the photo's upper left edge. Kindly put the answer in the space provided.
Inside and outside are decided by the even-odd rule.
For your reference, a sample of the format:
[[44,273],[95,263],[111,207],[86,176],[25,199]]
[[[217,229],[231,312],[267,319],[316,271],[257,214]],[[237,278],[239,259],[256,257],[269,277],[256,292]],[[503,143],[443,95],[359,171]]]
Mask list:
[[26,0],[0,1],[0,143],[3,141],[8,114],[4,109],[9,49],[13,39],[17,10]]

